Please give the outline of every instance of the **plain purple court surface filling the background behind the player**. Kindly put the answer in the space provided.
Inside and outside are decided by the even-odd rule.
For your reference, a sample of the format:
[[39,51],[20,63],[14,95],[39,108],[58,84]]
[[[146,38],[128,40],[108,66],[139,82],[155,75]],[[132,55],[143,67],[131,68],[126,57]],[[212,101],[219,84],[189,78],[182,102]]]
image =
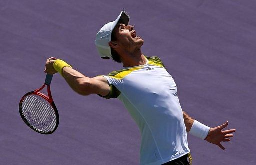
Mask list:
[[193,164],[256,164],[255,8],[254,0],[0,0],[0,164],[139,164],[139,130],[121,102],[80,96],[59,74],[53,134],[32,131],[18,112],[20,98],[44,82],[48,57],[89,77],[122,67],[94,45],[121,10],[143,53],[159,56],[174,77],[183,110],[237,129],[224,151],[188,135]]

